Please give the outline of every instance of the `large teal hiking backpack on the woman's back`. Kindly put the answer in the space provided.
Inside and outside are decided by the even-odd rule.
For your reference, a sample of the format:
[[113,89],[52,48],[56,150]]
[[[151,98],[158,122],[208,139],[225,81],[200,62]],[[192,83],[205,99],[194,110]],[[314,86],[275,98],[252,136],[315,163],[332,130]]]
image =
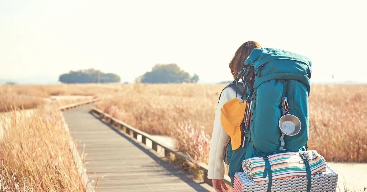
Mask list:
[[[244,144],[228,155],[232,185],[234,174],[243,171],[243,160],[306,151],[309,138],[309,58],[275,48],[255,48],[239,75],[245,82],[246,92],[242,96],[250,104],[251,112],[250,117],[245,116],[243,120]],[[285,108],[301,122],[297,135],[282,135],[280,131],[279,120]]]

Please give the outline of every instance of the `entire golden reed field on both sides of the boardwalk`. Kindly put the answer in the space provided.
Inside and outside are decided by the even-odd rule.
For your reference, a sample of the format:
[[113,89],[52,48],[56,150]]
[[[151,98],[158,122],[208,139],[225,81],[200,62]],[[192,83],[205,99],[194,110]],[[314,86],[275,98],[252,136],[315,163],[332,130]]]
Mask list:
[[[83,191],[58,107],[91,97],[102,98],[95,104],[102,111],[146,133],[173,137],[175,148],[208,163],[215,110],[224,86],[0,86],[0,112],[16,108],[6,115],[0,113],[0,191]],[[52,99],[61,95],[90,97]],[[365,84],[313,84],[309,97],[309,149],[317,150],[329,162],[366,163],[366,102]],[[29,115],[19,108],[34,110]]]

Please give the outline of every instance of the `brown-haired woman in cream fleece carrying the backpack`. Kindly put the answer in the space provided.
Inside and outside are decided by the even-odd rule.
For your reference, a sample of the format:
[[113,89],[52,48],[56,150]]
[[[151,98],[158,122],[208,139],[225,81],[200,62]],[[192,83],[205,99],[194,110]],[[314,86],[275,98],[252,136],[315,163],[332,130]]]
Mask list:
[[[233,75],[233,78],[236,78],[239,72],[242,71],[244,62],[246,58],[250,55],[251,51],[254,48],[260,48],[260,47],[261,45],[255,41],[247,41],[237,49],[235,55],[233,56],[232,61],[230,61],[229,63],[229,69]],[[224,153],[224,146],[230,137],[225,132],[221,124],[221,108],[225,102],[235,97],[236,92],[230,87],[225,88],[222,91],[214,119],[214,127],[209,152],[208,179],[212,180],[213,187],[217,192],[222,192],[222,186],[225,190],[228,190],[223,180],[224,179],[223,153]],[[237,98],[241,99],[241,95],[237,94]],[[229,175],[229,177],[231,177],[231,180],[233,180],[233,175]]]

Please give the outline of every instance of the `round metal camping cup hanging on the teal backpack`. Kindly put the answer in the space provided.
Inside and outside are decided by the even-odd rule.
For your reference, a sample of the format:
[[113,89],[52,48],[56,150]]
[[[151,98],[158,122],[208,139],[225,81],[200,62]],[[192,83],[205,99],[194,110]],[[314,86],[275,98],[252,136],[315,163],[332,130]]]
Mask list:
[[279,128],[284,134],[294,136],[301,131],[301,121],[294,115],[283,115],[279,119]]

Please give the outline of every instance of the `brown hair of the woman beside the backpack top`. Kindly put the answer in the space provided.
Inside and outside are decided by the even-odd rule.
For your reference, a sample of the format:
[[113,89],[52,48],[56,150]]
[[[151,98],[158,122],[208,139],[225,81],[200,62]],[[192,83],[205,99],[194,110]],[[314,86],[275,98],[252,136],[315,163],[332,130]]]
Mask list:
[[254,48],[260,47],[261,45],[256,41],[247,41],[237,49],[235,55],[233,55],[232,60],[229,62],[229,69],[233,75],[233,78],[236,78],[238,72],[243,69],[244,62],[246,58],[250,55],[251,51]]

